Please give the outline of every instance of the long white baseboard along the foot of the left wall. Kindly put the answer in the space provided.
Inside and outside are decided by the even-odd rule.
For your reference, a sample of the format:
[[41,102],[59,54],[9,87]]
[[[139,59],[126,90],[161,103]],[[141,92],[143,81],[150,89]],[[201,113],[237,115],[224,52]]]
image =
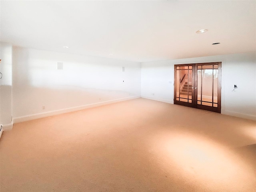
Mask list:
[[109,100],[109,101],[104,101],[104,102],[98,102],[98,103],[93,103],[93,104],[88,104],[88,105],[83,105],[83,106],[77,106],[77,107],[72,107],[72,108],[49,111],[49,112],[45,112],[45,113],[38,113],[38,114],[33,114],[33,115],[28,115],[28,116],[22,116],[22,117],[14,118],[13,121],[14,121],[14,123],[19,123],[19,122],[38,119],[38,118],[43,118],[43,117],[48,117],[48,116],[53,116],[53,115],[58,115],[58,114],[98,107],[98,106],[102,106],[102,105],[122,102],[122,101],[136,99],[136,98],[140,98],[140,96],[125,97],[125,98],[114,99],[114,100]]

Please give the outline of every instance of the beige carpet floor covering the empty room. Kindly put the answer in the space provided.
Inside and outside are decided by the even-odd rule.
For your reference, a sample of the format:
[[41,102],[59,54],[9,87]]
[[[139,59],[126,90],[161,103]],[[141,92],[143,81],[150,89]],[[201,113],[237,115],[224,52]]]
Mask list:
[[255,192],[256,122],[143,98],[14,124],[1,192]]

